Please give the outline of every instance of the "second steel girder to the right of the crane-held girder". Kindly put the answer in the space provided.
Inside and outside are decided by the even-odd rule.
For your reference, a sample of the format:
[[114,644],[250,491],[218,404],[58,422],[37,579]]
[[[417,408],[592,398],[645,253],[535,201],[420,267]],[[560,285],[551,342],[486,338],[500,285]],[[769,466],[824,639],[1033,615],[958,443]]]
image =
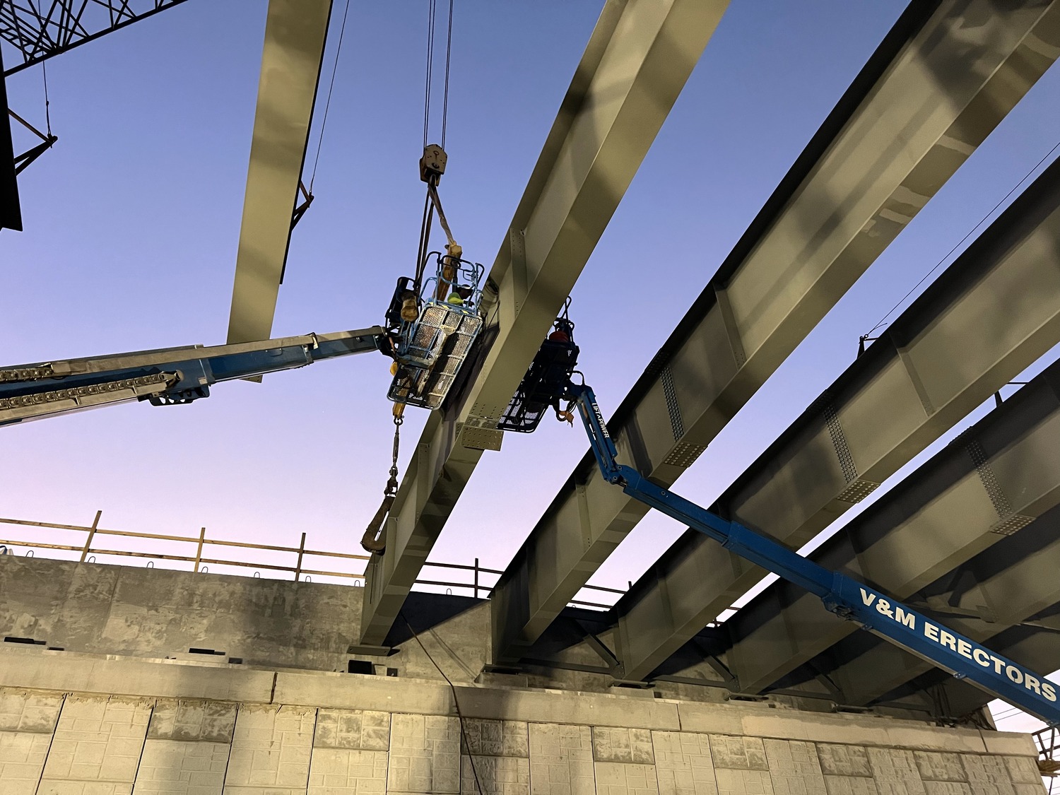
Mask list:
[[[1058,265],[1060,161],[726,490],[713,510],[792,548],[806,544],[1060,341]],[[650,674],[764,573],[686,531],[616,605],[626,676]],[[886,580],[879,584],[887,587]],[[778,667],[790,652],[780,651]],[[764,687],[772,675],[745,675],[741,684]]]

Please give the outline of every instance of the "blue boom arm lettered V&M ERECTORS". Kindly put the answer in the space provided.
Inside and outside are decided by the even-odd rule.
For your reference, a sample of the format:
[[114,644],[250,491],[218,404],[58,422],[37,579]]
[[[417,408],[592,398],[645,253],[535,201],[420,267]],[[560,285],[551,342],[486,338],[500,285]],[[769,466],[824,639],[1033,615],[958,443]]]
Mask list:
[[622,491],[634,499],[815,594],[841,618],[860,623],[869,632],[949,671],[958,679],[968,679],[1049,725],[1060,725],[1056,684],[846,575],[823,568],[772,538],[723,519],[656,485],[632,466],[616,460],[615,444],[591,388],[569,384],[563,398],[578,406],[604,479],[622,487]]

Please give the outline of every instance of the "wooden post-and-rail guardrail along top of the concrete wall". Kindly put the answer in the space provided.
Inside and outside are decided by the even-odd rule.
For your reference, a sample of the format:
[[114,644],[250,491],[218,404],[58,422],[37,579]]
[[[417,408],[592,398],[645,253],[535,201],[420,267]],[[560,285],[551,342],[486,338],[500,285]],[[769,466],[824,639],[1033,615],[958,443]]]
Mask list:
[[[284,547],[277,546],[272,544],[253,544],[242,541],[224,541],[220,538],[208,538],[206,534],[206,528],[200,528],[197,536],[192,535],[167,535],[162,533],[141,533],[130,530],[111,530],[109,528],[100,527],[100,519],[103,517],[103,511],[95,512],[95,518],[92,519],[91,525],[59,525],[51,522],[30,522],[28,519],[12,519],[0,517],[0,525],[15,525],[19,527],[35,527],[49,530],[71,530],[75,532],[86,533],[86,538],[84,544],[50,544],[32,538],[0,538],[0,554],[4,552],[13,552],[12,547],[20,547],[26,550],[26,554],[34,554],[37,549],[50,549],[50,550],[61,550],[68,552],[80,552],[81,563],[94,563],[95,555],[116,555],[120,558],[141,558],[147,559],[149,561],[175,561],[178,563],[191,563],[192,570],[196,572],[208,573],[209,565],[218,566],[237,566],[241,568],[249,569],[267,569],[269,571],[288,572],[294,573],[295,581],[300,581],[305,578],[305,581],[312,581],[314,575],[319,577],[336,577],[341,579],[353,580],[354,585],[360,585],[365,580],[364,568],[359,572],[352,571],[330,571],[326,569],[316,569],[306,568],[303,564],[306,558],[332,558],[341,559],[346,561],[368,561],[369,555],[367,554],[352,554],[349,552],[329,552],[320,549],[306,549],[305,548],[305,533],[302,533],[301,542],[297,547]],[[170,552],[145,552],[145,551],[135,551],[135,550],[124,550],[124,549],[104,549],[98,546],[93,546],[96,543],[98,536],[101,535],[112,535],[125,538],[142,538],[148,542],[176,542],[183,544],[194,544],[195,554],[172,554]],[[293,566],[283,566],[275,563],[254,563],[248,561],[233,561],[223,558],[205,556],[204,551],[208,551],[210,547],[234,547],[238,549],[253,549],[262,550],[266,552],[285,552],[295,555],[295,561]],[[89,560],[89,559],[92,560]],[[478,558],[475,559],[474,565],[466,565],[460,563],[425,563],[424,566],[431,568],[441,569],[452,569],[459,571],[467,571],[472,576],[472,582],[450,582],[446,580],[417,580],[417,585],[430,585],[436,587],[444,587],[449,589],[448,593],[452,594],[452,588],[464,588],[470,590],[472,595],[478,599],[480,595],[484,598],[489,598],[490,594],[493,593],[493,585],[487,585],[481,582],[481,576],[497,576],[504,573],[500,569],[487,568],[480,566]],[[218,572],[213,572],[218,573]],[[224,572],[220,572],[224,573]],[[601,591],[606,594],[617,594],[622,595],[625,591],[619,588],[607,588],[602,585],[586,585],[584,586],[586,590]],[[600,602],[589,602],[584,600],[571,600],[569,602],[571,605],[579,607],[591,607],[596,610],[607,610],[611,607],[610,604]]]

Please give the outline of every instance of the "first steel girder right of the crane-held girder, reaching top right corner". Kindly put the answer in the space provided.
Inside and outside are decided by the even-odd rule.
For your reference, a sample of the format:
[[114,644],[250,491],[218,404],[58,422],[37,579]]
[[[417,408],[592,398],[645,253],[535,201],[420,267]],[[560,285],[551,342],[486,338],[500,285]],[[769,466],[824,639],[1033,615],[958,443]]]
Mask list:
[[[1058,29],[1054,2],[912,3],[608,422],[620,456],[676,480],[1048,68]],[[646,513],[586,454],[493,591],[494,661],[518,659]],[[623,675],[706,613],[653,613],[623,638]]]

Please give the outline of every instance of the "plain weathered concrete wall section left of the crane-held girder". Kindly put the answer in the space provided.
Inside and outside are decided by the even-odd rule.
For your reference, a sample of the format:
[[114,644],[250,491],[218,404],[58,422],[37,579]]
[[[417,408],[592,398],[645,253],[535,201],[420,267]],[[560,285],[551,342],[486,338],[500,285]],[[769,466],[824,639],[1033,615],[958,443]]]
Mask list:
[[0,594],[0,632],[71,651],[344,671],[363,589],[4,555]]

